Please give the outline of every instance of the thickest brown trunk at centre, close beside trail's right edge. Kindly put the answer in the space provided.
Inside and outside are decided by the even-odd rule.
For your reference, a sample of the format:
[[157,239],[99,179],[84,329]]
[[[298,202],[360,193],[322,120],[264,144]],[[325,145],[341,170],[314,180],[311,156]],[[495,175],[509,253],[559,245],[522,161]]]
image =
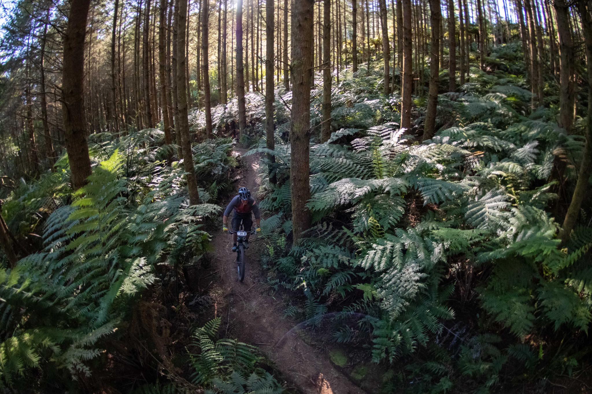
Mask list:
[[[240,1],[240,0],[239,0]],[[310,227],[310,78],[313,66],[314,0],[294,2],[292,9],[292,126],[290,130],[292,228],[294,242]]]

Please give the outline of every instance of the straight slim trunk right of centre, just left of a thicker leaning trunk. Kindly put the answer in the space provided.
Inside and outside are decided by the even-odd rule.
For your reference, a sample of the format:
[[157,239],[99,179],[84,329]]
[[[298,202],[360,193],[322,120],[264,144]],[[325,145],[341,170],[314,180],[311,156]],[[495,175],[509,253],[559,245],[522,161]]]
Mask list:
[[[411,127],[411,85],[413,83],[413,56],[411,54],[411,0],[403,5],[403,82],[401,83],[401,128]],[[432,27],[433,28],[433,27]]]

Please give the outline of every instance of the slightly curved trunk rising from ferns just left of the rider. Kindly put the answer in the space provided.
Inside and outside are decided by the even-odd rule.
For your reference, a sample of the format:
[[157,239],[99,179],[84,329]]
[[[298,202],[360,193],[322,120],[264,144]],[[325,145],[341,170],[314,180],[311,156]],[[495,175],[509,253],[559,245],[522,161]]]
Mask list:
[[178,130],[181,134],[181,148],[183,152],[183,167],[185,169],[185,179],[187,180],[187,189],[189,191],[189,204],[200,204],[200,194],[197,190],[197,179],[195,177],[195,166],[193,162],[193,153],[191,151],[191,137],[189,135],[189,118],[187,114],[187,91],[185,89],[185,34],[187,20],[187,0],[178,0],[178,9],[176,18],[178,25],[177,31],[177,106],[178,106]]

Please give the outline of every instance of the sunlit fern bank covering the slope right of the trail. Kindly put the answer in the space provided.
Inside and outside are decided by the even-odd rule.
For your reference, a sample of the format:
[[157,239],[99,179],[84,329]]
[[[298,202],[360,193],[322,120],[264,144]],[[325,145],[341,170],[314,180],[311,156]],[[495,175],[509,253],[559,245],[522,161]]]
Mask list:
[[[472,68],[459,92],[440,95],[439,131],[423,143],[423,98],[412,130],[400,130],[400,97],[377,93],[378,73],[343,80],[332,93],[337,131],[311,144],[316,227],[291,248],[288,125],[274,151],[251,151],[276,157],[278,183],[261,205],[272,212],[270,283],[301,294],[287,314],[339,327],[333,341],[386,366],[385,392],[544,390],[590,361],[592,229],[581,222],[559,248],[552,181],[557,157],[575,179],[584,138],[557,127],[551,92],[549,108],[530,111],[519,58],[498,47],[488,72]],[[314,127],[321,92],[313,97]]]

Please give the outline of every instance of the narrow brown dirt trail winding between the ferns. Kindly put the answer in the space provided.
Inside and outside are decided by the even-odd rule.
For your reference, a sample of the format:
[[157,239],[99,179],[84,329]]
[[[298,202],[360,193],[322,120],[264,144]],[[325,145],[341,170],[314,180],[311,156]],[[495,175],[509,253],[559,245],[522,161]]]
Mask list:
[[[243,154],[244,151],[237,150]],[[260,185],[259,165],[255,156],[243,158],[241,186],[247,186],[257,196]],[[237,185],[238,186],[238,185]],[[253,221],[254,224],[254,221]],[[305,343],[292,330],[295,324],[283,317],[284,303],[268,295],[265,273],[259,264],[262,243],[253,240],[247,251],[247,270],[244,282],[236,280],[235,254],[231,237],[221,231],[213,234],[214,270],[220,276],[215,286],[217,314],[223,328],[233,337],[245,343],[258,345],[260,350],[275,363],[276,369],[304,393],[363,394],[360,387],[333,366],[329,355],[322,348]],[[229,335],[230,336],[230,335]]]

